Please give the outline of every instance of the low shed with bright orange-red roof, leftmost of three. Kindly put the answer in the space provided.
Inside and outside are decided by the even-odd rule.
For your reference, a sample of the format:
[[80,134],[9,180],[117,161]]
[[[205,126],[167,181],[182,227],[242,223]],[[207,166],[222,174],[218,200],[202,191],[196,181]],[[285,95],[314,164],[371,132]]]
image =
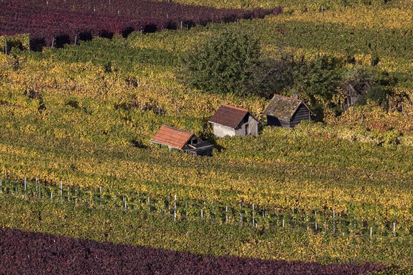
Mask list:
[[190,155],[212,155],[213,145],[202,141],[195,134],[173,126],[162,125],[151,143],[168,146],[184,151]]

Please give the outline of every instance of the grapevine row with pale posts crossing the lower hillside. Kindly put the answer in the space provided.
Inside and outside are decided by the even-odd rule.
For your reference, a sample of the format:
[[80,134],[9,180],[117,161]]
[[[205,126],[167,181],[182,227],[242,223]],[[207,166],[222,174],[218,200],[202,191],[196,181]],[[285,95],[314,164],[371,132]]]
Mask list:
[[176,195],[151,196],[147,192],[114,192],[105,188],[89,189],[41,184],[24,179],[23,182],[0,180],[0,197],[15,196],[29,200],[54,200],[89,208],[118,208],[133,211],[136,214],[157,213],[174,221],[215,221],[218,223],[239,223],[253,228],[280,228],[282,230],[311,230],[315,234],[370,235],[370,236],[411,236],[410,224],[394,219],[392,223],[382,221],[380,217],[370,217],[361,221],[347,215],[336,214],[335,210],[292,211],[254,203],[242,203],[239,207],[224,206],[217,201],[194,200]]

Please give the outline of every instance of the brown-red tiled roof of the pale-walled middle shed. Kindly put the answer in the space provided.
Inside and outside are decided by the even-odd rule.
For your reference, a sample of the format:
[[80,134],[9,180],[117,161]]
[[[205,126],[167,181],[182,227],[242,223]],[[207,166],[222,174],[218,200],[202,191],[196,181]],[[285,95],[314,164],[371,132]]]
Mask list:
[[247,109],[222,104],[209,119],[209,122],[235,128],[247,113],[249,113]]

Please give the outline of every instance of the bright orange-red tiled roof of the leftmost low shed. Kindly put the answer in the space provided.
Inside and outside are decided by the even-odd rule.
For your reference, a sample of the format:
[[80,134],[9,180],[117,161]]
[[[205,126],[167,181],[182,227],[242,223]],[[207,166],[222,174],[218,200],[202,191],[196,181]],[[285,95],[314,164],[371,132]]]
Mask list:
[[172,126],[162,125],[158,133],[152,137],[151,142],[182,150],[192,136],[193,133],[191,132],[180,130]]

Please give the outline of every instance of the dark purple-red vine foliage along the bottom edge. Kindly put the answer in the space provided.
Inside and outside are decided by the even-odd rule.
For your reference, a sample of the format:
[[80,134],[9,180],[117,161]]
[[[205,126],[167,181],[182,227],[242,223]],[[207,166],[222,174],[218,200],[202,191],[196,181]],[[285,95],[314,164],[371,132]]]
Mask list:
[[317,274],[352,275],[383,270],[379,264],[264,261],[198,256],[113,243],[0,230],[0,272],[5,274]]

